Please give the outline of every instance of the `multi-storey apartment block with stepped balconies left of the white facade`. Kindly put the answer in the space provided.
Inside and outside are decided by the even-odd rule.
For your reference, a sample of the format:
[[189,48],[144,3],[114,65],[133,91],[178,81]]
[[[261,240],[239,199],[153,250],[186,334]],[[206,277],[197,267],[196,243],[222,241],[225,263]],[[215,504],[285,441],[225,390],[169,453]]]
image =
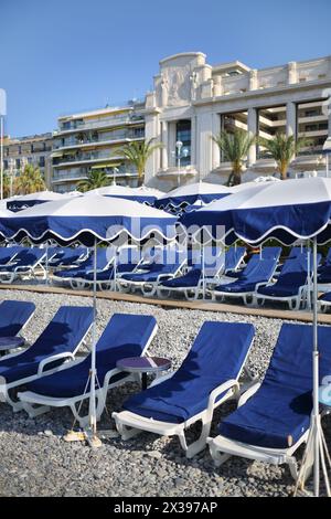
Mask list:
[[104,170],[118,184],[137,186],[137,172],[120,148],[145,139],[143,104],[106,107],[58,118],[53,134],[52,189],[72,191],[92,170]]

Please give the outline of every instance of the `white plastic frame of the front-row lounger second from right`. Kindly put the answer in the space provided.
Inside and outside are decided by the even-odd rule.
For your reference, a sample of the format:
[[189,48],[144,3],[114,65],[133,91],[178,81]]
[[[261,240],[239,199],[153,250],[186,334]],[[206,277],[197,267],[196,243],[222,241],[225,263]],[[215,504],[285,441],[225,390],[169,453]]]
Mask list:
[[[145,416],[140,416],[139,414],[131,413],[130,411],[121,411],[119,413],[113,413],[113,417],[115,419],[116,427],[119,434],[121,435],[121,439],[124,441],[130,439],[137,436],[138,434],[140,434],[142,431],[147,431],[149,433],[159,434],[160,436],[178,436],[181,447],[184,449],[188,458],[191,458],[195,456],[195,454],[203,451],[206,446],[206,439],[211,432],[214,410],[231,399],[235,399],[235,400],[239,399],[239,395],[241,395],[239,377],[243,370],[245,369],[245,363],[250,352],[253,342],[254,342],[254,338],[248,348],[248,351],[242,364],[242,368],[238,371],[237,378],[234,380],[228,380],[227,382],[224,382],[223,384],[215,388],[214,391],[212,391],[210,394],[207,407],[201,413],[192,416],[190,420],[182,422],[180,424],[177,424],[177,423],[170,423],[170,422],[161,422],[161,421],[153,420],[153,419],[147,419]],[[247,374],[249,374],[248,370],[246,372]],[[151,384],[151,386],[162,383],[164,380],[168,380],[171,377],[173,377],[173,374],[174,373],[167,374],[164,377],[157,379],[153,382],[153,384]],[[225,395],[220,401],[216,402],[217,396],[224,393],[225,391],[226,391]],[[185,430],[200,421],[202,422],[201,434],[195,442],[188,445]]]

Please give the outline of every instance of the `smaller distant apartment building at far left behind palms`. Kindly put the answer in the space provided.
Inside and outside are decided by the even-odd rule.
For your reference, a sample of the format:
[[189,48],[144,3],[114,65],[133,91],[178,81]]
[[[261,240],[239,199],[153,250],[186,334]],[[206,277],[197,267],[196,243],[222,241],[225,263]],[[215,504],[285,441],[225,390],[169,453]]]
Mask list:
[[26,163],[38,167],[47,189],[52,183],[51,133],[29,137],[7,137],[3,144],[3,170],[11,178],[19,174]]

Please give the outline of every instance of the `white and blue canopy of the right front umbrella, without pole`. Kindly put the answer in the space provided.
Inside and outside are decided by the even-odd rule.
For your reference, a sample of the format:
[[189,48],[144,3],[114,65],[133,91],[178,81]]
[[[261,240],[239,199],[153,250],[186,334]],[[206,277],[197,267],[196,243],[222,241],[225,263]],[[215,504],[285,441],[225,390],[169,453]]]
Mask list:
[[274,237],[291,244],[314,236],[324,243],[331,237],[331,179],[257,184],[184,214],[180,222],[204,227],[225,243],[241,239],[258,244]]

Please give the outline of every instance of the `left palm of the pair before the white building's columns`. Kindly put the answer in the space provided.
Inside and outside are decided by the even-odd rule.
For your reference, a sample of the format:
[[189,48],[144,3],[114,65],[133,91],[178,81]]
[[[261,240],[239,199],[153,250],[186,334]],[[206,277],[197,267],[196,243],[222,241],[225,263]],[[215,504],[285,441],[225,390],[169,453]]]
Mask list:
[[224,159],[232,163],[232,173],[227,179],[227,186],[242,183],[243,162],[250,146],[255,142],[255,137],[236,128],[234,133],[224,130],[212,138],[223,152]]

